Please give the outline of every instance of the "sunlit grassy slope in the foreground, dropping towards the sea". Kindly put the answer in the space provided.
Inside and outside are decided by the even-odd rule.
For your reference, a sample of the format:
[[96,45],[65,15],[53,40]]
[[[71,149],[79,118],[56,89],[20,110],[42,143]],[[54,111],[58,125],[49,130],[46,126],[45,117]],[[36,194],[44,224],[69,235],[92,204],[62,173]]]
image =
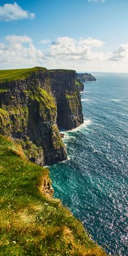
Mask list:
[[1,255],[105,255],[59,200],[41,193],[48,169],[0,136]]

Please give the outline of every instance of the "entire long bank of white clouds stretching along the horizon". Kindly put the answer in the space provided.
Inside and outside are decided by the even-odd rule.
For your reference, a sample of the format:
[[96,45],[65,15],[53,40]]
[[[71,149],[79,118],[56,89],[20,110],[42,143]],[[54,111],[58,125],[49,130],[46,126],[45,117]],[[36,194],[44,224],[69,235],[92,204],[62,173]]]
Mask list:
[[47,49],[43,50],[42,44],[40,50],[27,35],[8,35],[5,42],[0,42],[0,69],[42,66],[87,72],[127,72],[128,43],[121,44],[114,53],[104,53],[103,45],[103,41],[92,38],[57,37]]

